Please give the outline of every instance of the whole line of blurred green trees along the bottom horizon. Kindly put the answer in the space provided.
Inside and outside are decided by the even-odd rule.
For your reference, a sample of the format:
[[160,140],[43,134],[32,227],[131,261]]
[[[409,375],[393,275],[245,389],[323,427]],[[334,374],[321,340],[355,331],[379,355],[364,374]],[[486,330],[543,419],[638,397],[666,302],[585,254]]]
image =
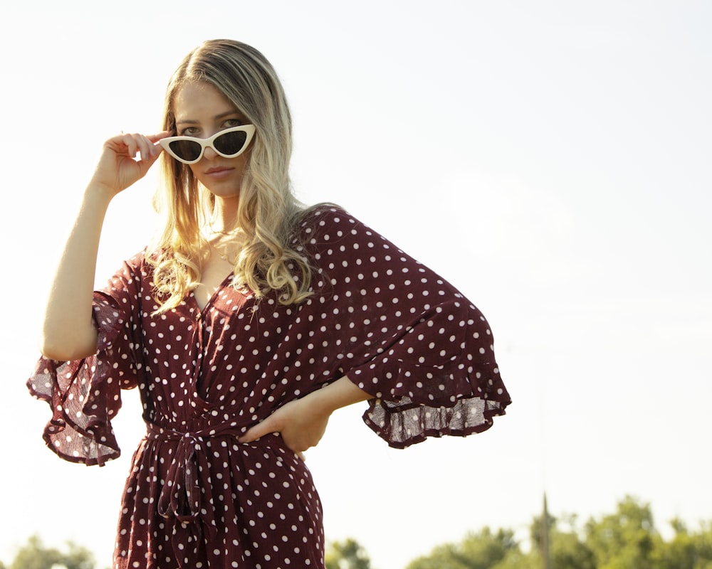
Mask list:
[[[570,514],[536,516],[529,539],[520,541],[509,528],[489,527],[443,543],[405,569],[712,569],[712,522],[689,528],[670,521],[673,536],[661,537],[650,504],[632,496],[616,511],[578,523]],[[333,541],[325,555],[326,569],[377,569],[355,539]],[[97,569],[91,551],[68,542],[59,549],[38,536],[16,551],[0,569]]]

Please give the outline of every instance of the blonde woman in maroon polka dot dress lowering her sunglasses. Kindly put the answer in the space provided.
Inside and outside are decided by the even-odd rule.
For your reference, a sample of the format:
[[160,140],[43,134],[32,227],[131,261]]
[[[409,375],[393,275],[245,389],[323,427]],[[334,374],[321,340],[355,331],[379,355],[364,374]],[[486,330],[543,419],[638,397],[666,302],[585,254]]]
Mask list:
[[[85,464],[118,456],[120,388],[140,389],[115,568],[323,567],[301,453],[335,409],[368,400],[402,448],[509,403],[480,312],[340,208],[300,208],[290,151],[271,65],[208,41],[169,83],[164,132],[109,139],[85,190],[28,385],[53,407],[47,444]],[[105,211],[161,154],[163,233],[93,292]]]

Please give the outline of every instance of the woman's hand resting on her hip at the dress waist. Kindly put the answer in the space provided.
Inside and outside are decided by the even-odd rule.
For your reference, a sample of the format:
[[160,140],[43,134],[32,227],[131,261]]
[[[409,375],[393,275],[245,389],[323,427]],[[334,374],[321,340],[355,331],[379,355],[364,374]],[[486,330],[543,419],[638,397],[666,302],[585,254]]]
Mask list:
[[284,444],[296,454],[315,447],[324,436],[331,415],[315,405],[313,393],[301,399],[290,401],[278,408],[268,418],[251,427],[239,437],[240,442],[252,442],[260,437],[278,432]]

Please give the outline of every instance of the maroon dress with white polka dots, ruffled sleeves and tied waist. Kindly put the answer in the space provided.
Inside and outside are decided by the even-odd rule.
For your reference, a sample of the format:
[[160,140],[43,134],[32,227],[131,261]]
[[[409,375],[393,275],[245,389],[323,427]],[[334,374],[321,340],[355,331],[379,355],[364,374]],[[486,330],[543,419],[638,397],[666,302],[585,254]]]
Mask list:
[[503,415],[488,324],[454,287],[339,208],[310,211],[294,246],[315,267],[305,302],[258,301],[228,277],[204,309],[190,294],[157,316],[152,268],[137,255],[95,293],[96,355],[39,361],[28,387],[53,410],[44,439],[74,462],[119,455],[120,390],[140,390],[147,435],[115,568],[323,568],[304,462],[278,435],[237,436],[342,376],[375,395],[364,420],[392,447],[480,432]]

